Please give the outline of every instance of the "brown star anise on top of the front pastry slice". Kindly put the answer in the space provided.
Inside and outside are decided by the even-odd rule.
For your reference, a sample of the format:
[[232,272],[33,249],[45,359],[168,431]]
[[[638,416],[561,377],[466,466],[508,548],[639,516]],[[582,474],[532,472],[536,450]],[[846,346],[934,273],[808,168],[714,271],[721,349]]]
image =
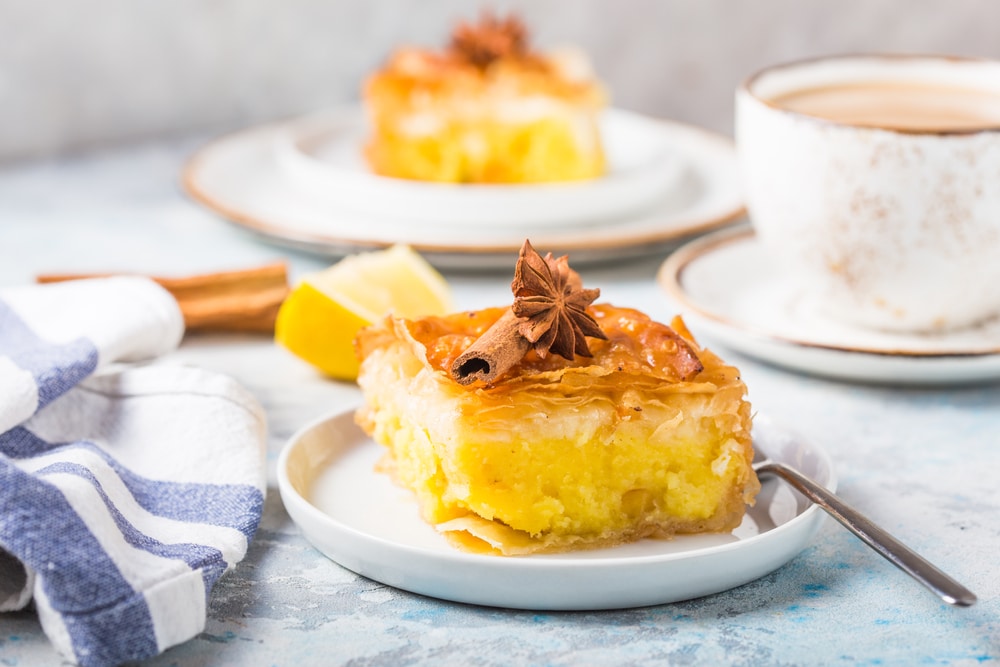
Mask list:
[[550,352],[570,360],[577,354],[590,357],[586,337],[607,339],[587,312],[601,291],[585,289],[565,255],[553,258],[547,253],[543,258],[525,241],[511,290],[511,311],[520,319],[518,332],[543,359]]

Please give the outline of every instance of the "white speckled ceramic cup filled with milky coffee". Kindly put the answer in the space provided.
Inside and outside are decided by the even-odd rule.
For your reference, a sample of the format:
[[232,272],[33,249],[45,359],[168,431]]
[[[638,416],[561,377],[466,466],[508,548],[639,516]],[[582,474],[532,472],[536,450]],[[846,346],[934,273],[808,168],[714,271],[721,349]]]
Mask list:
[[946,331],[1000,314],[1000,62],[840,56],[737,91],[751,222],[839,321]]

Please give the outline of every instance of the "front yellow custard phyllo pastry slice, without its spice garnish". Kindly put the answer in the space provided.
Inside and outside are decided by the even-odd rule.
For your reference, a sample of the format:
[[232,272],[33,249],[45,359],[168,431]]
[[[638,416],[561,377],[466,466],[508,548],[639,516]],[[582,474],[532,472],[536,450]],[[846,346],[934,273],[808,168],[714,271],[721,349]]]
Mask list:
[[635,310],[590,312],[608,336],[589,341],[593,358],[529,352],[491,386],[448,369],[503,309],[388,318],[359,337],[358,422],[459,546],[525,554],[728,531],[753,502],[739,372],[690,341],[704,369],[682,381],[673,330]]

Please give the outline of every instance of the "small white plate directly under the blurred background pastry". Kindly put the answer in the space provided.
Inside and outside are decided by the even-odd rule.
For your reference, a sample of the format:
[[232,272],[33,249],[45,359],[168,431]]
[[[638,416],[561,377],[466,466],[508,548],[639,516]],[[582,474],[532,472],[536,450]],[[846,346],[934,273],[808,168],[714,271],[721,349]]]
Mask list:
[[523,234],[636,215],[677,186],[680,156],[660,123],[612,109],[600,125],[607,173],[565,183],[454,184],[378,176],[363,158],[369,130],[356,108],[290,121],[274,148],[295,186],[352,211],[406,226],[505,226]]

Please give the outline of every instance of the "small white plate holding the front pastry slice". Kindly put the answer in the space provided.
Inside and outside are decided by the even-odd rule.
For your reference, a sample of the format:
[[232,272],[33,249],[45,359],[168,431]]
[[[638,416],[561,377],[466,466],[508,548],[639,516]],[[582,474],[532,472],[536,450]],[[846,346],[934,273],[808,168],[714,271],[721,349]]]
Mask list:
[[[820,448],[764,420],[754,439],[831,490]],[[643,540],[615,548],[503,557],[452,547],[419,517],[410,492],[374,470],[384,448],[355,424],[353,411],[300,430],[278,459],[289,515],[317,549],[342,566],[431,597],[517,609],[620,609],[724,591],[786,563],[812,539],[824,514],[777,480],[731,534]]]

